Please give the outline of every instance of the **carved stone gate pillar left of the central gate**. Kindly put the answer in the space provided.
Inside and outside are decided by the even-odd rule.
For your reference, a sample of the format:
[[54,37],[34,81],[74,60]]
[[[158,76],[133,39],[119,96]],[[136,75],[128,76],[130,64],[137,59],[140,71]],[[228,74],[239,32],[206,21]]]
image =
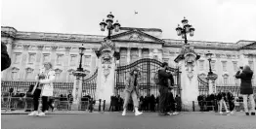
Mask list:
[[119,59],[119,52],[115,51],[115,44],[107,40],[102,43],[102,47],[96,51],[96,54],[99,61],[96,99],[106,100],[108,107],[110,96],[114,94],[115,66],[116,59]]

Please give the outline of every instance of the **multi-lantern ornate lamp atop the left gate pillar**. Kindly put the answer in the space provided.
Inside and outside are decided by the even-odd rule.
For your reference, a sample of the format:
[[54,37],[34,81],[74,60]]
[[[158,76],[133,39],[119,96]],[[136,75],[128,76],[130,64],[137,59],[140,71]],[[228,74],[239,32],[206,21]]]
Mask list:
[[116,20],[116,22],[114,24],[113,23],[113,15],[111,14],[111,12],[109,13],[109,15],[107,15],[107,20],[105,22],[105,19],[100,23],[101,26],[101,31],[105,31],[105,28],[107,26],[107,30],[108,30],[108,34],[107,34],[107,39],[110,40],[110,35],[112,30],[114,29],[115,32],[118,32],[120,30],[120,24],[118,23],[118,20]]

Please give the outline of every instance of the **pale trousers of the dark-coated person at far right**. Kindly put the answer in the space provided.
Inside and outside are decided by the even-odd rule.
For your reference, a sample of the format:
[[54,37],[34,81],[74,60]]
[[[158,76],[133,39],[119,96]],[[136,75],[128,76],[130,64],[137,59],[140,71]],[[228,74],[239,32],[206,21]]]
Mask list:
[[251,113],[255,113],[255,101],[254,101],[254,98],[253,98],[253,94],[243,94],[242,98],[243,98],[244,112],[245,113],[249,112],[249,110],[248,110],[248,103],[247,103],[248,98],[249,98],[249,103],[251,104],[250,112]]

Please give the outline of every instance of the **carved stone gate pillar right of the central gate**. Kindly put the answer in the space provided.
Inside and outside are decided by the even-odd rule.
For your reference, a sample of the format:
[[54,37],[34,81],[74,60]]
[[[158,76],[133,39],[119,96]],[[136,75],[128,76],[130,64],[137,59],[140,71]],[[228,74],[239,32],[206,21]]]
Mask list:
[[197,55],[190,45],[185,45],[180,54],[174,60],[178,63],[181,74],[181,100],[183,109],[186,111],[192,111],[192,101],[197,101],[198,92],[198,81],[197,73],[198,67],[196,66],[196,60],[200,56]]

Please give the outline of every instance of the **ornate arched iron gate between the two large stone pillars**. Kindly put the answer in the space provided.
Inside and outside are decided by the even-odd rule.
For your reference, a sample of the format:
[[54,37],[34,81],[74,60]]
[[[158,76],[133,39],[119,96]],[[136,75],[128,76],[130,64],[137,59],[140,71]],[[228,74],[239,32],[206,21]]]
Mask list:
[[[158,85],[156,85],[153,81],[153,76],[155,73],[161,68],[162,62],[155,60],[155,59],[149,59],[144,58],[137,60],[134,63],[131,63],[129,65],[125,66],[119,66],[115,70],[115,91],[117,91],[117,94],[121,94],[123,92],[123,89],[125,88],[125,80],[129,76],[130,72],[137,68],[139,69],[143,83],[140,85],[142,86],[142,90],[140,90],[141,95],[151,95],[153,94],[155,97],[159,95],[158,92]],[[180,74],[178,68],[170,68],[170,72],[173,75],[174,78],[174,84],[175,86],[178,86],[179,88],[174,89],[174,97],[178,94],[180,95]]]

